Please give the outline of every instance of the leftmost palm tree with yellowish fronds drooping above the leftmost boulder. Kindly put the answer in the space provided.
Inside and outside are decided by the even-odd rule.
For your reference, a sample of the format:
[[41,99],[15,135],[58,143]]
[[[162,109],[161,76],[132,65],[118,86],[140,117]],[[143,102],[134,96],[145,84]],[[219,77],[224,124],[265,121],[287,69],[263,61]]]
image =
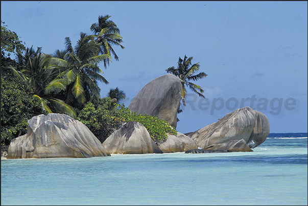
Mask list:
[[30,94],[37,97],[42,109],[48,113],[55,111],[66,113],[76,118],[76,112],[72,106],[67,105],[62,100],[54,98],[53,93],[65,89],[65,84],[53,80],[62,72],[61,69],[50,63],[51,55],[41,52],[41,48],[35,51],[32,47],[27,48],[26,54],[22,55],[17,51],[17,64],[20,71],[10,66],[14,74],[26,85]]

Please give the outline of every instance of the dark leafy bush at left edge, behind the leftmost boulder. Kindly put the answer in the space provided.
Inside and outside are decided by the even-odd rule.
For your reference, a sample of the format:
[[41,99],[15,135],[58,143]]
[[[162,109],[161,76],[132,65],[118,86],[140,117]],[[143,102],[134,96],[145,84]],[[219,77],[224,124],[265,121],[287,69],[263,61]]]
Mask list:
[[[27,133],[28,120],[43,113],[40,101],[26,91],[12,72],[3,67],[1,71],[1,145]],[[11,61],[13,64],[13,61]]]

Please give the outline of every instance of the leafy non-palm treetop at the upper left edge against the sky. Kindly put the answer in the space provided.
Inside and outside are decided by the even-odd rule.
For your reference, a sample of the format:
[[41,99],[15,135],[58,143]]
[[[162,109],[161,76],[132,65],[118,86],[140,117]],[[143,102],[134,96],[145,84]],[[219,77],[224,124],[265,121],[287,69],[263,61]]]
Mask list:
[[19,41],[18,36],[15,32],[8,30],[4,25],[4,21],[1,20],[1,55],[5,57],[5,52],[10,56],[10,53],[16,50],[25,50],[25,45]]

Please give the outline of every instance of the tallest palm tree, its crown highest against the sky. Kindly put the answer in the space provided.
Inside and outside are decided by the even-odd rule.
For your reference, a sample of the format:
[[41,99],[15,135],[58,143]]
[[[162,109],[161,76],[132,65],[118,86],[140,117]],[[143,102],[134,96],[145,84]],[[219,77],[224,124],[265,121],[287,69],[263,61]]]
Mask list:
[[[111,16],[99,16],[98,23],[94,23],[91,25],[90,30],[96,36],[96,41],[101,43],[100,54],[108,54],[110,52],[113,54],[114,59],[119,61],[119,57],[114,52],[112,45],[120,45],[122,49],[124,49],[121,43],[123,42],[122,36],[120,36],[120,29],[117,28],[116,24],[112,20],[108,20]],[[104,66],[107,67],[109,65],[109,61],[111,59],[104,60]]]

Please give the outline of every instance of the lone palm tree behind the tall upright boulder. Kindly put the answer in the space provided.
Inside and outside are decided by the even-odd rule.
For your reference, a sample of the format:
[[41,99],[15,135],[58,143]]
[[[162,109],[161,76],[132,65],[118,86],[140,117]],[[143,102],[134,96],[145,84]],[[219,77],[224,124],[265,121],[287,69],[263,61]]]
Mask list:
[[[167,68],[167,73],[173,74],[177,76],[181,83],[182,83],[182,103],[186,107],[186,94],[187,94],[187,89],[185,86],[188,86],[190,89],[192,89],[196,94],[199,95],[199,97],[205,98],[203,95],[204,90],[201,88],[201,86],[194,84],[190,82],[190,80],[197,81],[199,79],[205,78],[207,74],[204,72],[200,72],[199,74],[195,73],[199,70],[199,62],[195,63],[192,65],[192,59],[193,57],[189,57],[187,59],[186,55],[184,59],[179,58],[178,61],[178,67],[174,68],[174,66]],[[199,91],[198,91],[199,90]],[[182,110],[179,106],[178,108],[178,113],[180,113]]]

